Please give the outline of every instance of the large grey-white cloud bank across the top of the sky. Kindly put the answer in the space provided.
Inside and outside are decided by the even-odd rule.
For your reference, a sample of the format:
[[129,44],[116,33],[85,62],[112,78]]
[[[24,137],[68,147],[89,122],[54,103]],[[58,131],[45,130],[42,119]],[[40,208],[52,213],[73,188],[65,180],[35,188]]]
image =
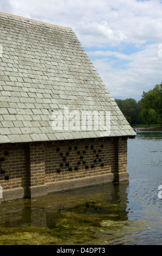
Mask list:
[[[9,4],[6,0],[1,2]],[[10,0],[10,3],[16,15],[72,27],[84,46],[161,40],[158,0]]]

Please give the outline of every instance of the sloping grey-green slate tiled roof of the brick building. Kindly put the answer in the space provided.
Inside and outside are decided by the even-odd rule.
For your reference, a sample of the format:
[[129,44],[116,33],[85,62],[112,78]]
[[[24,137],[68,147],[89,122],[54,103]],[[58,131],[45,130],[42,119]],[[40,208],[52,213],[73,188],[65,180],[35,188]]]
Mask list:
[[105,136],[52,129],[65,107],[110,111],[109,136],[135,135],[71,28],[0,12],[0,44],[0,143]]

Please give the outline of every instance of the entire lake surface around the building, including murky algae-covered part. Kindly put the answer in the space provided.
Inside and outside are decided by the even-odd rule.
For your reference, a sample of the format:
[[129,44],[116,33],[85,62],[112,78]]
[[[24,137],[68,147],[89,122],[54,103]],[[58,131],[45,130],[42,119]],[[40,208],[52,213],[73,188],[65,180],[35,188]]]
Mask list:
[[0,245],[161,245],[161,139],[128,140],[129,182],[0,204]]

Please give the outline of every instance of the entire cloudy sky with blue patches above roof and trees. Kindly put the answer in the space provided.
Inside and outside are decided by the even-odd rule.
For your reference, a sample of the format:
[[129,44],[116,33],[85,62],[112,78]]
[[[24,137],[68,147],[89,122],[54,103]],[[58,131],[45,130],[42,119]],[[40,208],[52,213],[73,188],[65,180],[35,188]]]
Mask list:
[[162,82],[162,0],[0,0],[0,11],[72,28],[114,99]]

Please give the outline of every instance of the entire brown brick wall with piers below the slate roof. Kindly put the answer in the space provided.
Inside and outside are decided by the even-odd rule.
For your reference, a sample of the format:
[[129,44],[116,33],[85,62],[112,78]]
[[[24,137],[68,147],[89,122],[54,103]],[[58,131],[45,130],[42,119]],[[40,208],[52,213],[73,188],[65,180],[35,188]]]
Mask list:
[[0,145],[3,198],[45,196],[129,179],[127,138]]

